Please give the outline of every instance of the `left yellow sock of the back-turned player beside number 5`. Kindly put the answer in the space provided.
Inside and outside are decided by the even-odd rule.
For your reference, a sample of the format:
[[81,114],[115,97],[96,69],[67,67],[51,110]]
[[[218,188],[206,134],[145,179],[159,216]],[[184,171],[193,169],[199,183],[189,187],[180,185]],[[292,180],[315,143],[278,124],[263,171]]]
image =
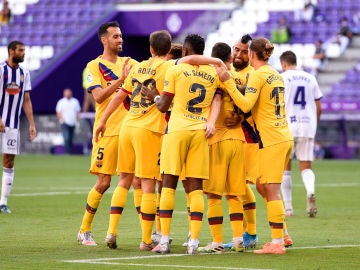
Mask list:
[[117,233],[117,225],[119,223],[122,211],[126,205],[128,192],[128,189],[119,186],[117,186],[114,190],[110,205],[109,228],[107,231],[108,234],[112,233],[116,235]]

